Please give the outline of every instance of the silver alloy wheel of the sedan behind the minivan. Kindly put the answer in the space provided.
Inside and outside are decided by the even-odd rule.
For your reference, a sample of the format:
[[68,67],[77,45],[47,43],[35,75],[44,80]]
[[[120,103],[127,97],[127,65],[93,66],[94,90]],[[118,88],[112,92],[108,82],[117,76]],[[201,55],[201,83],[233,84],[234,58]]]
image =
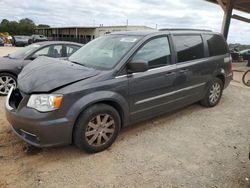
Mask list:
[[16,80],[11,76],[0,76],[0,94],[7,95],[11,87],[16,88]]

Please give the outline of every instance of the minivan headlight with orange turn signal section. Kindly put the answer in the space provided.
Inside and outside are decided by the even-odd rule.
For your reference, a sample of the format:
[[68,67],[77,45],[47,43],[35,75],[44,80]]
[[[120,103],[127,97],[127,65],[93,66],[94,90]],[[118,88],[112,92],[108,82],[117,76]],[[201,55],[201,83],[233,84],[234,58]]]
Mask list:
[[40,112],[49,112],[60,107],[62,98],[58,94],[34,94],[30,96],[27,106]]

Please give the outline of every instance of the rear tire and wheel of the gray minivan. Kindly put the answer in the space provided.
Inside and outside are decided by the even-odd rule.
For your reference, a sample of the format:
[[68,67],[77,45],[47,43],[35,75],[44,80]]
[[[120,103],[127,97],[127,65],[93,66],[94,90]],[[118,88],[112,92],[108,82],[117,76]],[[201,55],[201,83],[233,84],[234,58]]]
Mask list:
[[223,82],[219,78],[214,78],[208,84],[205,97],[200,101],[202,106],[214,107],[221,99],[223,92]]

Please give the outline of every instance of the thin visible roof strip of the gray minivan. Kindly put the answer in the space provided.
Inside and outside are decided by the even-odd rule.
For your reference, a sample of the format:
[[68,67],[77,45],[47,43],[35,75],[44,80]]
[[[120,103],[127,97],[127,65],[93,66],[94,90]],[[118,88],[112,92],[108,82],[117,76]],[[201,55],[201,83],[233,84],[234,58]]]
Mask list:
[[157,34],[219,34],[210,30],[201,29],[160,29],[160,30],[143,30],[143,31],[125,31],[115,32],[111,35],[131,35],[131,36],[147,36]]

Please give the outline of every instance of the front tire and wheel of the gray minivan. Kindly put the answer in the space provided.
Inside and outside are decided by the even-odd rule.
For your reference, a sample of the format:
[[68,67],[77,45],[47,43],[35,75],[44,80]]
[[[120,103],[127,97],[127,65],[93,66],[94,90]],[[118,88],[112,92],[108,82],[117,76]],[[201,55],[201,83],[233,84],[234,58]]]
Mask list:
[[96,104],[82,112],[75,124],[74,144],[86,152],[97,153],[110,147],[121,128],[119,113],[106,104]]

